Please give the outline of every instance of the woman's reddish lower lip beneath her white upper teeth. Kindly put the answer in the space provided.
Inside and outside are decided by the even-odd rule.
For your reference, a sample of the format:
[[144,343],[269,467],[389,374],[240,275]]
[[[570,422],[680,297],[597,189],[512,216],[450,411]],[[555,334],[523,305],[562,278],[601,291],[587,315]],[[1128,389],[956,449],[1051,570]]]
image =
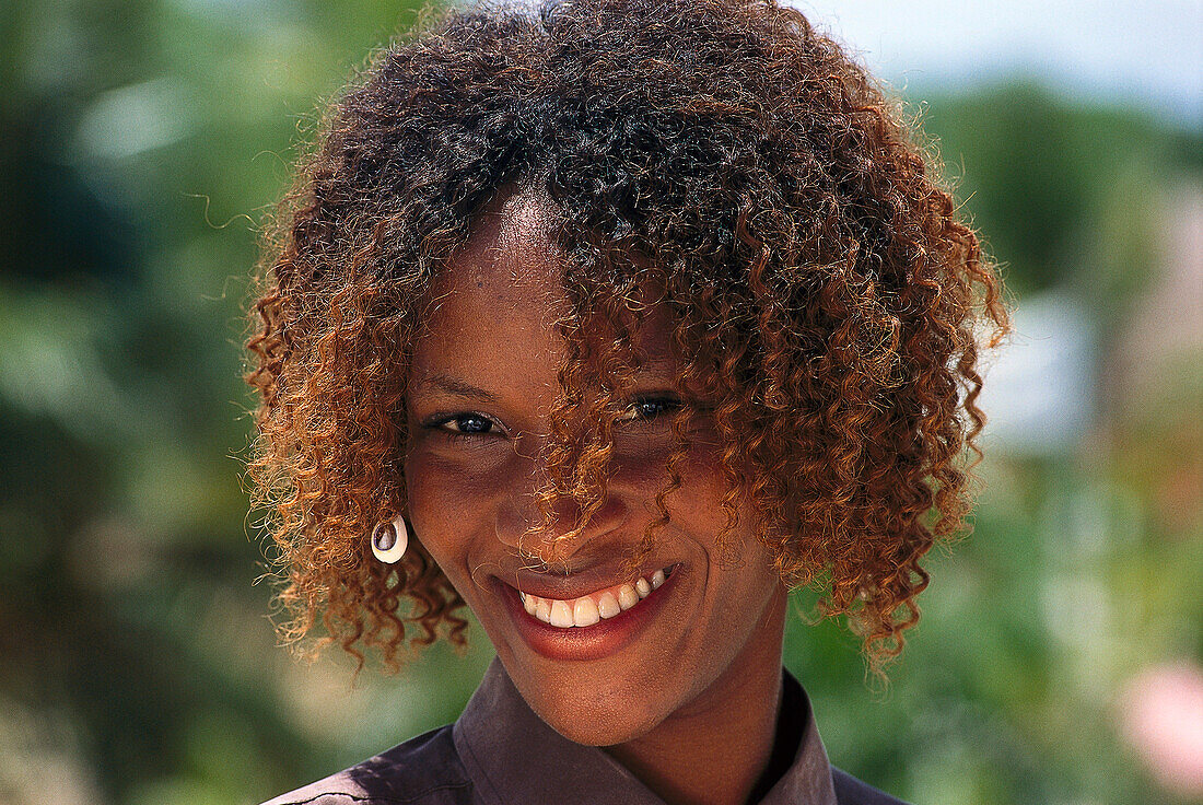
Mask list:
[[510,610],[510,617],[518,634],[535,652],[549,659],[602,659],[634,641],[647,625],[664,608],[669,594],[676,588],[675,581],[681,575],[681,568],[652,591],[647,598],[614,617],[602,618],[593,626],[573,626],[561,628],[544,623],[526,611],[518,591],[498,580],[500,593]]

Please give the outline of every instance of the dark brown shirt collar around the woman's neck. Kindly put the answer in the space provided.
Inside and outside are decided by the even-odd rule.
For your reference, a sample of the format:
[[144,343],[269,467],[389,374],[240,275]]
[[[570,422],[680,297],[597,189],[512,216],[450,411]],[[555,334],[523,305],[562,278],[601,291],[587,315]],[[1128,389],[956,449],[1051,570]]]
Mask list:
[[[804,724],[793,765],[759,805],[810,803],[836,805],[831,765],[811,717],[811,704],[798,680],[795,714]],[[563,803],[564,805],[664,805],[663,800],[617,760],[595,746],[574,744],[527,706],[522,694],[493,658],[452,736],[460,759],[490,805]]]

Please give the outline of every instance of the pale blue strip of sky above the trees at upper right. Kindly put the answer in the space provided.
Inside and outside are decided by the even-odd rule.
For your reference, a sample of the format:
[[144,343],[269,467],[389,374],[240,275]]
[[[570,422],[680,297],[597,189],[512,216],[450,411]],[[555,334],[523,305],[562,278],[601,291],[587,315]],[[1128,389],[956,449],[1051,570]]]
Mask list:
[[1203,0],[789,2],[896,88],[1023,75],[1203,128]]

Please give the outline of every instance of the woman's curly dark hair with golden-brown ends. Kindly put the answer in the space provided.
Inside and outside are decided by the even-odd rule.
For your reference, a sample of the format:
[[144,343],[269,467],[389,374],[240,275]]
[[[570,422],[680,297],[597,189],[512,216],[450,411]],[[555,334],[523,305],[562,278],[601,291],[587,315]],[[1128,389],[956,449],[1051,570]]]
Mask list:
[[[553,202],[571,313],[544,513],[605,496],[639,289],[672,313],[680,489],[712,418],[728,491],[789,587],[823,590],[877,670],[959,533],[1001,285],[895,101],[774,0],[570,0],[440,14],[380,51],[327,112],[266,227],[248,381],[250,477],[286,568],[295,640],[319,621],[363,663],[462,645],[463,602],[421,545],[367,534],[404,510],[405,374],[432,279],[515,184]],[[747,505],[751,504],[751,505]],[[742,508],[741,508],[742,507]],[[420,535],[419,535],[420,537]],[[562,535],[563,537],[563,535]]]

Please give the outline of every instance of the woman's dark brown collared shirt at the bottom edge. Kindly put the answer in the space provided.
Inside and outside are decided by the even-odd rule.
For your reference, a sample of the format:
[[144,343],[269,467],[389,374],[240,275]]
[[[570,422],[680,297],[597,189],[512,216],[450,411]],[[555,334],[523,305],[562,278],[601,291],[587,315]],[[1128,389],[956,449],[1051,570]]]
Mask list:
[[[778,720],[793,762],[760,805],[890,805],[899,800],[832,769],[810,700],[783,671]],[[787,747],[788,751],[788,747]],[[784,765],[784,764],[782,764]],[[595,746],[574,744],[527,706],[494,659],[455,724],[432,730],[263,805],[664,805]]]

